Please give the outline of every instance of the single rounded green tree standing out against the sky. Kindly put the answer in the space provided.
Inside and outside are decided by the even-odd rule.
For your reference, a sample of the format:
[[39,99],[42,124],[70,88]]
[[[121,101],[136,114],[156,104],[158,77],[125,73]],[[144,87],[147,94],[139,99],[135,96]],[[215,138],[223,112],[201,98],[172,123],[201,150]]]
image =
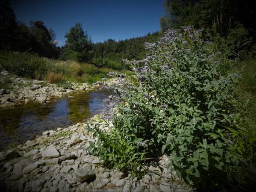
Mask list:
[[91,60],[92,40],[87,31],[84,31],[81,23],[75,23],[75,26],[66,33],[66,45],[62,52],[62,57],[79,62],[89,62]]

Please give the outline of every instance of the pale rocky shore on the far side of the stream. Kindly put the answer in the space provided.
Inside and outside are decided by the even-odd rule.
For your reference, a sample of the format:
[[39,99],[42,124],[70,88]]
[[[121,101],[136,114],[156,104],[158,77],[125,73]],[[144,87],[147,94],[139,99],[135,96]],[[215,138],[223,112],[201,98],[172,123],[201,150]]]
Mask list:
[[0,107],[14,106],[21,103],[51,102],[54,97],[61,97],[73,91],[91,90],[95,85],[70,82],[69,88],[58,87],[45,81],[28,80],[19,76],[10,75],[5,70],[0,72],[0,83],[7,84],[8,88],[0,89]]

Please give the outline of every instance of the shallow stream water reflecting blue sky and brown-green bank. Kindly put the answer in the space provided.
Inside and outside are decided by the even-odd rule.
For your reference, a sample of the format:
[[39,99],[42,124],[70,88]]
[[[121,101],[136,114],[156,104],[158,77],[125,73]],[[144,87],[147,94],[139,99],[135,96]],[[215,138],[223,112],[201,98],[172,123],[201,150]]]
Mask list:
[[0,108],[0,149],[20,144],[43,131],[67,127],[99,113],[106,103],[108,90],[93,90],[60,98],[51,104],[29,104]]

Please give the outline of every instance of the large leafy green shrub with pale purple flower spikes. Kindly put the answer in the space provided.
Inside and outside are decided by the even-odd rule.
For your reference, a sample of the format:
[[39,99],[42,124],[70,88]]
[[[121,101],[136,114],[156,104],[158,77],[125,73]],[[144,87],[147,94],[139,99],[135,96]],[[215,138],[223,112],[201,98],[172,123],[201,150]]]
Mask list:
[[[239,163],[231,137],[239,75],[226,71],[221,53],[201,32],[170,29],[160,42],[146,43],[151,54],[130,62],[138,81],[127,79],[117,89],[114,131],[134,145],[134,154],[167,153],[188,184],[214,189],[224,187],[227,167]],[[101,142],[108,147],[107,140]]]

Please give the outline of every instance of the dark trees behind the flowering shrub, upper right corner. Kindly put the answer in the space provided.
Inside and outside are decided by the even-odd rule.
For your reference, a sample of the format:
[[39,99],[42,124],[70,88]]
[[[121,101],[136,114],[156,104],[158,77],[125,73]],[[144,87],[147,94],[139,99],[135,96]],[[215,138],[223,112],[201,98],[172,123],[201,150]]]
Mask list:
[[166,0],[162,31],[191,25],[204,29],[205,39],[217,42],[230,57],[249,58],[256,53],[256,13],[253,1]]

